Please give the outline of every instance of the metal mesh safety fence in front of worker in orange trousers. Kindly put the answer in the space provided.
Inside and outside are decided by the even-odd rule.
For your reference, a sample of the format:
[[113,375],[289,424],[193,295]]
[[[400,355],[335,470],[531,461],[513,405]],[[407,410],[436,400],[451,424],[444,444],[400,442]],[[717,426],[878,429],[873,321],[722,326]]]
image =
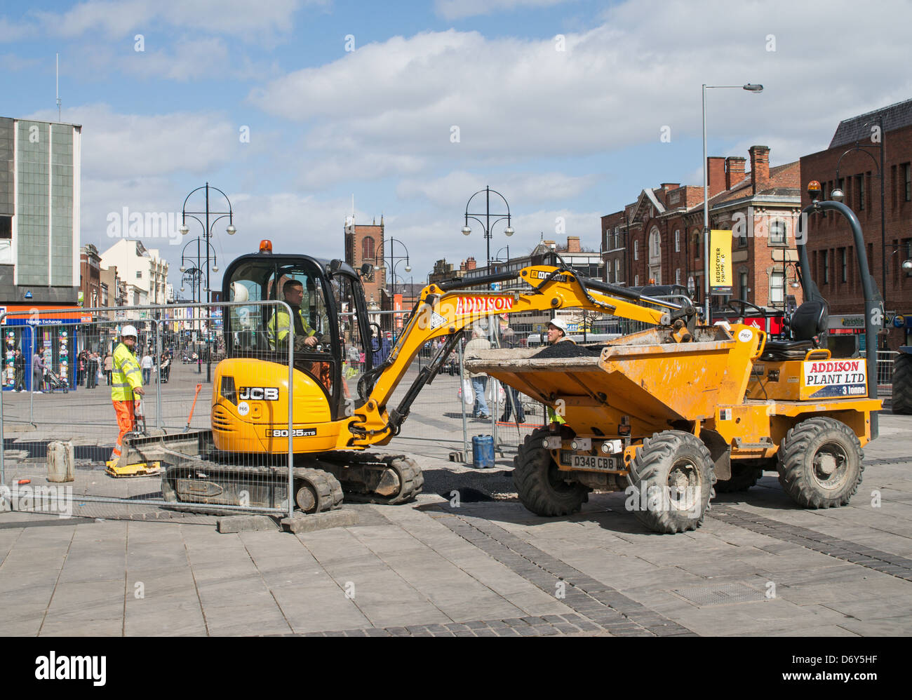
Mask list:
[[[231,355],[243,364],[231,386],[216,381],[229,350],[228,314],[241,329]],[[244,421],[243,400],[245,390],[294,386],[302,362],[290,318],[287,304],[267,300],[0,314],[0,508],[96,517],[103,504],[291,514],[292,403],[276,402],[261,427]],[[122,344],[128,325],[137,337]],[[118,386],[118,366],[141,385],[132,396]],[[227,401],[213,408],[217,392]],[[132,448],[118,460],[125,436]],[[217,451],[243,458],[216,463]]]

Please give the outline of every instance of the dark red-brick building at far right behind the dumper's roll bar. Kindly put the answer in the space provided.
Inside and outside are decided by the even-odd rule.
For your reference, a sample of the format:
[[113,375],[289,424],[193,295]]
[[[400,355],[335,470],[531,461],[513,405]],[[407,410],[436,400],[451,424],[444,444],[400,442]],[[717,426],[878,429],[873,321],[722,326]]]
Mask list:
[[[886,246],[881,236],[881,146]],[[855,211],[865,235],[868,268],[885,297],[887,321],[896,314],[912,318],[912,277],[903,269],[903,262],[912,260],[912,99],[844,119],[827,149],[800,162],[802,206],[811,203],[804,187],[810,180],[821,183],[824,199],[831,199],[837,186],[845,192],[845,204]],[[811,272],[830,303],[831,333],[858,335],[860,347],[865,301],[848,222],[835,212],[810,217],[807,239]],[[907,341],[908,322],[886,326],[889,349]]]

